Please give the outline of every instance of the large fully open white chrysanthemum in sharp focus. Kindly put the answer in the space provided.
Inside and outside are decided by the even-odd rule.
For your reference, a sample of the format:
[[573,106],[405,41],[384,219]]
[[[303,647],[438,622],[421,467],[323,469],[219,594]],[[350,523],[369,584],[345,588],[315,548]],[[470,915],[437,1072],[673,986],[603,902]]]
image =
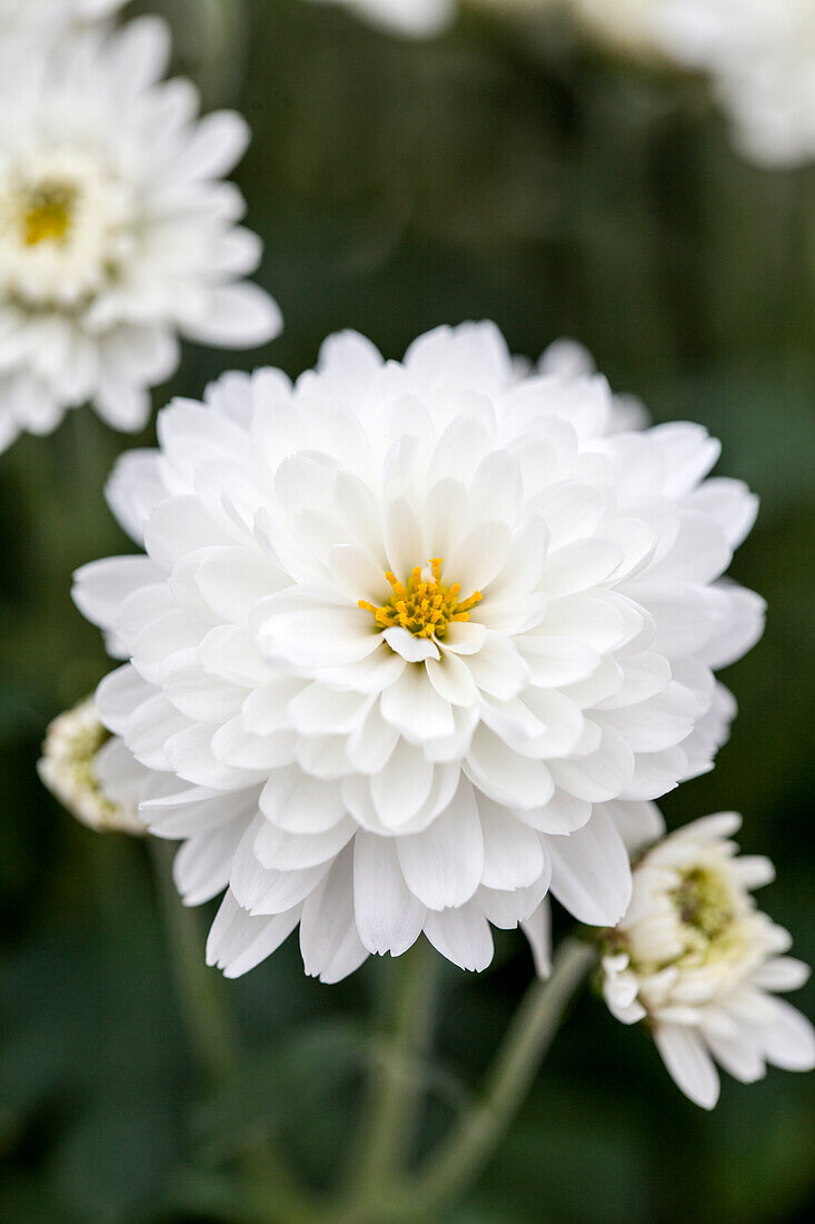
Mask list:
[[[163,777],[188,903],[229,886],[209,958],[237,974],[300,923],[335,980],[423,930],[458,965],[549,889],[613,925],[624,838],[711,766],[712,668],[761,630],[721,581],[755,499],[705,480],[694,425],[619,430],[600,377],[524,376],[488,323],[403,364],[329,339],[292,387],[226,376],[159,417],[109,486],[147,556],[77,574],[128,662],[105,725]],[[622,835],[620,835],[622,831]]]

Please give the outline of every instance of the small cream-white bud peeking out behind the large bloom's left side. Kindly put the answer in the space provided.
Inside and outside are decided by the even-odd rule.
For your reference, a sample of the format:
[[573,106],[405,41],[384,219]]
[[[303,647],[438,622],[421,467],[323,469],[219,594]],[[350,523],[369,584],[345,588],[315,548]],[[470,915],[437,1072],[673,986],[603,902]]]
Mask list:
[[51,794],[89,829],[146,831],[138,804],[151,794],[153,780],[132,756],[125,756],[121,743],[99,721],[92,700],[54,718],[37,769]]

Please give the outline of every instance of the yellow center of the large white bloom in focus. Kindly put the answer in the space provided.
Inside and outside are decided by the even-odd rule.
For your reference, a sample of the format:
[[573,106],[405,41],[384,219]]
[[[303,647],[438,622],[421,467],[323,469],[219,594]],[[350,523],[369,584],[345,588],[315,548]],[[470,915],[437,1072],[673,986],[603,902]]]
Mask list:
[[481,591],[474,591],[466,600],[459,600],[461,584],[445,586],[442,581],[443,557],[431,557],[425,569],[415,565],[406,583],[400,583],[389,570],[385,578],[393,588],[393,596],[382,607],[368,600],[360,600],[363,612],[372,612],[382,629],[400,627],[415,638],[443,638],[448,624],[469,621],[470,611],[480,603]]

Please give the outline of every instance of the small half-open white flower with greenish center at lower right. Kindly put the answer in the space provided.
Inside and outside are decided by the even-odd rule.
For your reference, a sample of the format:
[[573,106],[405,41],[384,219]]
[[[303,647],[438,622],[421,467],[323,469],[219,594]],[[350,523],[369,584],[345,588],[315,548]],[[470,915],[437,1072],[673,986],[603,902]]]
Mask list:
[[713,1060],[744,1083],[767,1062],[815,1066],[813,1026],[773,994],[803,985],[809,969],[780,955],[788,933],[756,909],[750,890],[773,870],[766,858],[737,857],[728,837],[740,823],[706,816],[642,857],[602,962],[611,1011],[625,1024],[647,1020],[677,1084],[705,1109],[720,1093]]

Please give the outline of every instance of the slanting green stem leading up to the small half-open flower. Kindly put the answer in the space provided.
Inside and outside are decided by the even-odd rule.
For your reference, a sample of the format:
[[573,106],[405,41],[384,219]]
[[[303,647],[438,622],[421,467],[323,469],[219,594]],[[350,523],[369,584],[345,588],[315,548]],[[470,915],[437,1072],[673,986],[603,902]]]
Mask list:
[[565,940],[547,982],[534,982],[521,1000],[483,1089],[453,1133],[404,1187],[404,1215],[428,1219],[480,1173],[526,1097],[563,1013],[596,960],[596,951]]

